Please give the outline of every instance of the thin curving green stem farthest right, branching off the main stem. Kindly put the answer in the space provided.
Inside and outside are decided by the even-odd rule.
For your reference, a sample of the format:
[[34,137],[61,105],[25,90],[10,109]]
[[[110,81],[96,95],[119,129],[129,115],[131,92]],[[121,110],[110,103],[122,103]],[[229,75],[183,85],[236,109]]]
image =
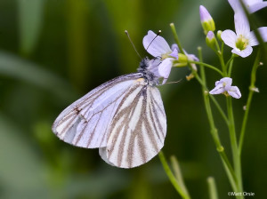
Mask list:
[[257,53],[257,56],[255,58],[255,62],[252,68],[251,72],[251,80],[250,80],[250,86],[249,86],[249,93],[248,93],[248,98],[247,98],[247,104],[246,104],[246,110],[245,114],[243,117],[243,122],[242,122],[242,127],[240,131],[240,137],[239,137],[239,155],[241,155],[242,147],[243,147],[243,141],[244,141],[244,136],[245,136],[245,131],[246,131],[246,126],[247,126],[247,116],[249,112],[249,107],[251,104],[251,100],[253,97],[253,94],[255,92],[255,80],[256,80],[256,70],[259,67],[259,62],[261,58],[261,52],[259,51]]

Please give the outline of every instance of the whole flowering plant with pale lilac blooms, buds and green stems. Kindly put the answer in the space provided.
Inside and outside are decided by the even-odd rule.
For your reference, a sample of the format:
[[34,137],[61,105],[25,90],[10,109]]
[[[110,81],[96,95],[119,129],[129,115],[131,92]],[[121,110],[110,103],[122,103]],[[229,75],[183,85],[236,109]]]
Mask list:
[[[186,78],[187,80],[195,78],[195,80],[198,81],[198,83],[202,86],[206,114],[208,122],[210,123],[211,134],[214,138],[216,148],[218,149],[218,152],[220,152],[219,154],[222,157],[223,165],[231,181],[231,186],[235,192],[242,193],[243,187],[240,152],[242,149],[242,143],[246,129],[247,114],[253,96],[252,94],[253,92],[259,92],[259,90],[255,87],[255,75],[256,69],[260,64],[261,53],[258,53],[258,55],[256,56],[255,64],[252,68],[249,95],[247,98],[247,104],[244,108],[246,112],[244,115],[244,120],[239,133],[239,137],[236,136],[237,134],[231,98],[240,99],[242,95],[239,90],[239,87],[232,85],[233,80],[231,78],[231,72],[233,68],[234,59],[238,57],[246,58],[247,56],[249,56],[253,52],[252,47],[258,45],[259,40],[267,42],[267,27],[261,27],[257,28],[256,30],[251,30],[249,20],[247,19],[247,14],[256,12],[260,9],[263,9],[264,7],[267,7],[267,2],[263,2],[263,0],[228,0],[228,2],[234,11],[233,20],[235,24],[235,31],[232,31],[231,29],[226,29],[223,31],[217,30],[215,33],[216,27],[214,19],[203,5],[199,6],[200,22],[204,30],[204,34],[206,36],[206,44],[215,52],[215,55],[218,57],[218,60],[221,64],[221,68],[217,68],[216,66],[212,66],[203,62],[200,47],[198,48],[198,56],[200,61],[195,55],[189,54],[184,49],[182,49],[182,44],[180,43],[179,38],[176,34],[174,24],[171,24],[171,28],[177,44],[169,45],[162,36],[158,36],[159,34],[157,35],[151,30],[146,36],[143,37],[142,44],[146,51],[154,57],[154,59],[152,60],[147,59],[149,61],[149,64],[144,64],[144,66],[149,67],[145,69],[149,69],[149,72],[153,74],[153,78],[154,76],[157,76],[158,78],[163,78],[162,84],[166,84],[166,81],[170,76],[172,68],[189,66],[191,74],[190,76],[186,76]],[[259,39],[256,35],[260,36],[261,39]],[[232,54],[228,61],[224,60],[224,44],[231,47]],[[199,65],[199,69],[197,68],[196,64]],[[215,86],[211,91],[208,91],[207,89],[208,84],[206,83],[207,81],[205,67],[213,69],[218,74],[220,74],[220,76],[222,76],[219,81],[215,82]],[[200,71],[199,75],[198,70]],[[223,94],[224,96],[226,96],[225,101],[227,114],[223,110],[223,107],[221,107],[220,103],[218,103],[218,101],[213,96],[211,96],[217,94]],[[219,113],[225,120],[226,125],[228,126],[231,139],[233,163],[228,160],[226,153],[224,153],[223,146],[221,145],[220,136],[214,123],[213,110],[210,103],[211,101],[214,102],[215,107],[218,109]],[[167,165],[164,158],[160,157],[160,159],[163,163],[165,162],[165,164]],[[178,181],[179,180],[177,180],[177,184],[175,184],[174,187],[184,187],[184,185],[180,185]],[[187,190],[181,188],[181,191],[179,191],[179,193],[181,195],[187,195]],[[190,197],[184,196],[184,198]]]

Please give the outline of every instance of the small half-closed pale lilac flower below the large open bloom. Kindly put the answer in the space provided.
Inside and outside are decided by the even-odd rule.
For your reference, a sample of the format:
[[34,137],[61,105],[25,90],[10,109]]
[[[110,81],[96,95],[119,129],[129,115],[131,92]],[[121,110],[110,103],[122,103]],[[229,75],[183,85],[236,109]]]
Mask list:
[[241,98],[241,92],[239,91],[238,86],[231,86],[231,83],[232,79],[230,77],[223,77],[220,81],[215,83],[215,88],[209,93],[214,95],[227,92],[233,98]]

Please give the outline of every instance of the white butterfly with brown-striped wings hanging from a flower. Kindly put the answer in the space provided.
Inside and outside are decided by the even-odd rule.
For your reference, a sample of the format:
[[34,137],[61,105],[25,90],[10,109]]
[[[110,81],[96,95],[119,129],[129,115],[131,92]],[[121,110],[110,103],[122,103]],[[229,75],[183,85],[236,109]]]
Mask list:
[[53,132],[77,147],[99,147],[101,158],[120,168],[147,163],[166,137],[166,114],[156,87],[159,63],[143,59],[137,73],[88,92],[62,111]]

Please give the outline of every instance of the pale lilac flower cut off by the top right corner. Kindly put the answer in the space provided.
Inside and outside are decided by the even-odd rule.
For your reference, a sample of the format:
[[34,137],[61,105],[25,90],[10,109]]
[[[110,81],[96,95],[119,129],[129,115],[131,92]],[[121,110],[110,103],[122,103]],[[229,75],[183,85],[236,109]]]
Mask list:
[[[231,8],[235,13],[243,12],[243,8],[239,0],[228,0],[228,2],[231,4]],[[267,6],[267,2],[263,2],[263,0],[243,0],[243,3],[247,7],[247,11],[249,13],[256,12]]]

